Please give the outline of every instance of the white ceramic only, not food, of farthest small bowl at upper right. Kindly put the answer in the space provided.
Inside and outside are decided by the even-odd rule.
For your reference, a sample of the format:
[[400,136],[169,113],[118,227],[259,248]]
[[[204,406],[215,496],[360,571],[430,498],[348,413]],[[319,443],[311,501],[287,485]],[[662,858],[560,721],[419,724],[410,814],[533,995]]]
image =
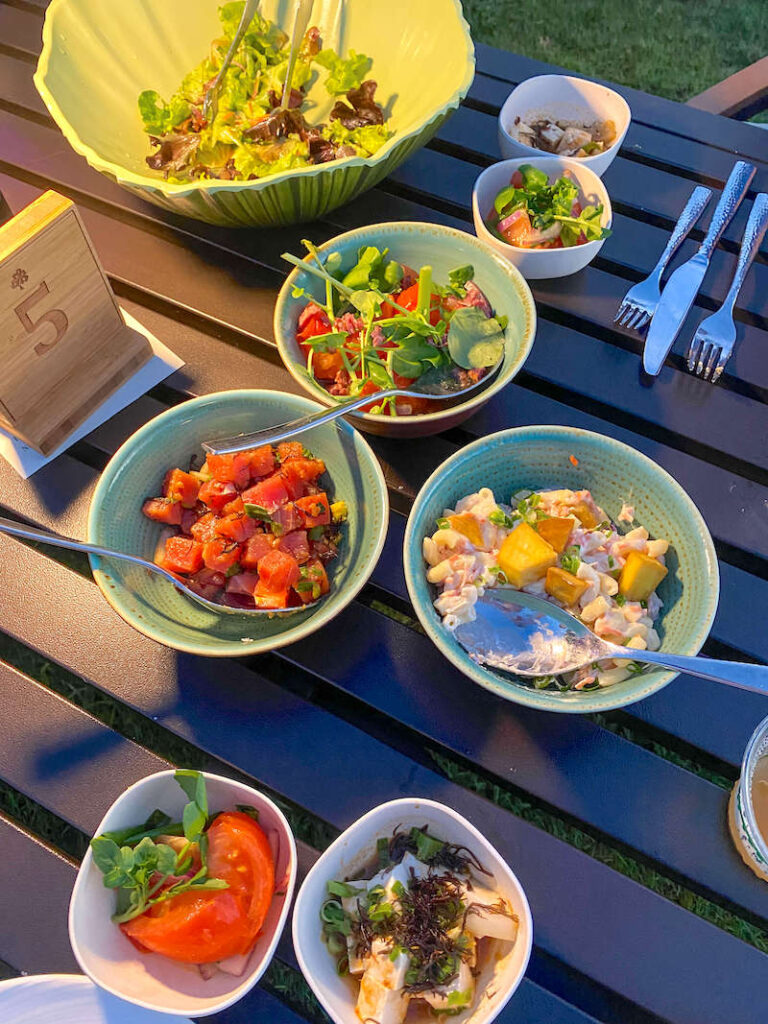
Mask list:
[[629,103],[617,92],[606,85],[589,82],[569,75],[537,75],[516,86],[499,114],[499,147],[503,157],[524,157],[541,155],[542,151],[518,141],[514,130],[515,118],[525,121],[536,114],[551,118],[584,119],[587,124],[599,119],[612,121],[616,126],[616,137],[604,152],[592,157],[581,157],[584,164],[599,177],[605,173],[618,153],[624,136],[632,121]]

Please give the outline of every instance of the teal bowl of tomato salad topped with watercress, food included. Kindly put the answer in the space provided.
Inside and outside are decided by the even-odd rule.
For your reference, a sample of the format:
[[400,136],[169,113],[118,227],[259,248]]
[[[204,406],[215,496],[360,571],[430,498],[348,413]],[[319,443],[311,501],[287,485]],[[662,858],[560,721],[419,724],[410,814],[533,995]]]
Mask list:
[[[404,222],[304,245],[304,254],[285,254],[295,268],[275,306],[278,347],[294,379],[325,404],[371,395],[348,414],[361,430],[413,437],[447,429],[525,360],[536,331],[530,291],[471,236]],[[458,392],[377,400],[393,387],[418,391],[435,376],[450,377]],[[465,387],[472,390],[463,395]]]

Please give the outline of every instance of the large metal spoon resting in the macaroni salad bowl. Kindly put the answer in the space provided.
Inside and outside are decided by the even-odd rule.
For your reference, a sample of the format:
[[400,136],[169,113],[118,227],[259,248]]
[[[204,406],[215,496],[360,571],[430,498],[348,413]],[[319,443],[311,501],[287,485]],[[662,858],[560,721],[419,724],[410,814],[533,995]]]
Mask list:
[[472,660],[516,676],[559,676],[620,657],[768,693],[768,666],[620,647],[544,598],[509,587],[486,591],[474,607],[476,620],[458,626],[456,639]]

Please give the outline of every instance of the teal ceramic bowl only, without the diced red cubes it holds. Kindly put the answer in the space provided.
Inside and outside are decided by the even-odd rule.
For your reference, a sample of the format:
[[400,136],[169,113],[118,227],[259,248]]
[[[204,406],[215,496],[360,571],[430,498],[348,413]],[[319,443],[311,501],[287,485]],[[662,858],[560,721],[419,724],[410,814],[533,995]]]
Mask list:
[[[193,398],[150,420],[128,438],[101,474],[91,500],[88,540],[152,560],[162,527],[141,515],[172,466],[202,455],[201,442],[282,423],[317,411],[313,401],[281,391],[221,391]],[[140,633],[176,650],[231,656],[283,647],[331,622],[368,581],[388,525],[389,502],[379,463],[348,424],[326,424],[302,441],[328,468],[330,490],[349,506],[339,557],[329,566],[331,592],[290,615],[211,611],[172,584],[138,566],[91,558],[102,594]]]

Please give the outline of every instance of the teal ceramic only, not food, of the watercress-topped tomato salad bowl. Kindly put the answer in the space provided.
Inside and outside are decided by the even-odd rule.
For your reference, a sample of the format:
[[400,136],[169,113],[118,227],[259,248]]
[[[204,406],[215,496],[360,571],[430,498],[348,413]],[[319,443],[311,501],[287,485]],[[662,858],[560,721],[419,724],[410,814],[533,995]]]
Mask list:
[[[466,401],[434,402],[434,413],[421,416],[374,416],[371,413],[350,413],[349,421],[360,430],[387,437],[425,437],[447,430],[463,423],[473,413],[505,387],[518,373],[527,358],[536,335],[536,305],[525,279],[517,267],[494,252],[485,242],[442,224],[420,221],[370,224],[353,231],[337,234],[325,245],[321,253],[338,252],[344,270],[357,261],[357,252],[365,246],[388,248],[390,257],[418,269],[431,265],[434,281],[447,282],[449,271],[471,263],[475,268],[475,283],[488,297],[494,310],[509,318],[507,325],[504,361],[494,382],[488,387],[473,391]],[[297,254],[298,255],[298,254]],[[335,406],[336,400],[322,385],[306,373],[304,357],[296,341],[296,325],[307,298],[294,298],[296,286],[307,295],[325,302],[325,286],[304,270],[296,268],[288,275],[278,295],[274,306],[274,337],[286,369],[307,394]]]

